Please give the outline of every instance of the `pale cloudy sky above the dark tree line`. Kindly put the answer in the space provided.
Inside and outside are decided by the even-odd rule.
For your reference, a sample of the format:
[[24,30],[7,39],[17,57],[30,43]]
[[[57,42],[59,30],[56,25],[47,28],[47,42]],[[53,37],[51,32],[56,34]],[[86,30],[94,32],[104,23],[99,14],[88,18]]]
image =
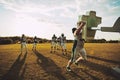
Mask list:
[[[0,0],[0,36],[51,39],[64,33],[73,39],[79,15],[96,11],[101,26],[112,27],[120,16],[120,0]],[[120,33],[97,31],[95,39],[120,40]]]

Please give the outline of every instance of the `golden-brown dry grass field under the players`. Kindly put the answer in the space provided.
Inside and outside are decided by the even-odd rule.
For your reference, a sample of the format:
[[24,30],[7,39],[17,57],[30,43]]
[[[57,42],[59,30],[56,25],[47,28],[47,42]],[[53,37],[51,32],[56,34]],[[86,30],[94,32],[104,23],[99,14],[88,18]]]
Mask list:
[[50,53],[50,44],[38,44],[32,50],[20,53],[20,44],[0,45],[0,80],[118,80],[111,68],[120,66],[120,44],[86,43],[88,60],[72,65],[66,71],[72,43],[67,44],[68,54],[58,50]]

